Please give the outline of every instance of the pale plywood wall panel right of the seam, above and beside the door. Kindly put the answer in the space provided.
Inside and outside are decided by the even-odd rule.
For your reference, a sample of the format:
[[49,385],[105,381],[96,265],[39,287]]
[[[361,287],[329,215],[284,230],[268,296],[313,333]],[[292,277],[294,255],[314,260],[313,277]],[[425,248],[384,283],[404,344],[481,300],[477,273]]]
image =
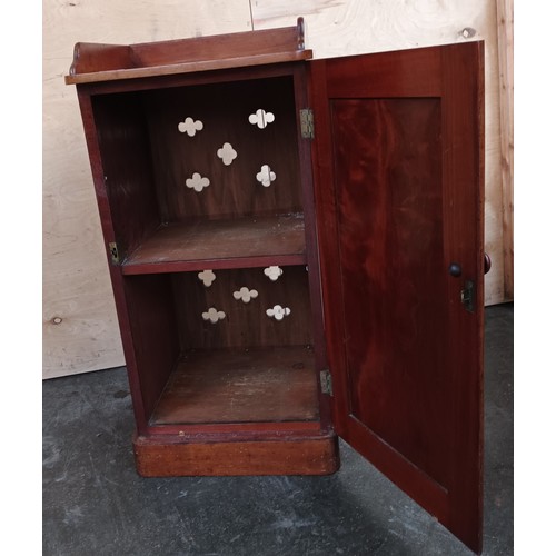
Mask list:
[[496,0],[254,0],[255,29],[306,21],[315,58],[484,40],[486,56],[486,304],[505,300]]

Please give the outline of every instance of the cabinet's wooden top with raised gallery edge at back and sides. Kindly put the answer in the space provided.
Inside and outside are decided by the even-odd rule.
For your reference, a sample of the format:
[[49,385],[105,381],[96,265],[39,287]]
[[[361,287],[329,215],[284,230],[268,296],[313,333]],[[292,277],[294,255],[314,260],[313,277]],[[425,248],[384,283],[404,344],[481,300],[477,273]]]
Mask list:
[[[254,54],[254,52],[257,52]],[[312,58],[305,50],[305,23],[193,39],[100,44],[78,42],[67,85],[170,76]]]

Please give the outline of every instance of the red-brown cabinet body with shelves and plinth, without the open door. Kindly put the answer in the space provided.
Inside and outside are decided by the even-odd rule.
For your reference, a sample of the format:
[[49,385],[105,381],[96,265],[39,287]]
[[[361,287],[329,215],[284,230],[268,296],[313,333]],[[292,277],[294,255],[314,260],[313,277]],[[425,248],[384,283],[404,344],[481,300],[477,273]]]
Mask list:
[[[200,41],[215,60],[203,59],[210,48],[187,52],[197,41],[76,49],[67,81],[78,83],[146,476],[338,467],[318,385],[326,357],[310,141],[297,116],[306,68],[291,63],[310,52],[299,29],[278,36]],[[288,48],[275,51],[276,41]],[[275,115],[264,132],[248,121],[259,108]],[[202,133],[179,133],[187,117]],[[239,155],[227,167],[216,152],[224,141]],[[256,180],[261,163],[276,172],[270,188]],[[193,171],[210,177],[202,195],[185,187]],[[262,274],[270,265],[284,269],[276,282]],[[197,277],[205,269],[217,275],[210,288]],[[235,299],[242,286],[258,297]],[[291,309],[285,321],[267,316],[276,304]],[[225,320],[203,320],[210,306]]]

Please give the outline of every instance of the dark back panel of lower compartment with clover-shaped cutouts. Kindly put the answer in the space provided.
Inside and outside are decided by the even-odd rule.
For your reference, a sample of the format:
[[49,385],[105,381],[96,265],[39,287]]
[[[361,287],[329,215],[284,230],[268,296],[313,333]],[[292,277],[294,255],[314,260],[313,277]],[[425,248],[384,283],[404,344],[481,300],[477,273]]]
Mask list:
[[[312,345],[305,266],[282,270],[276,281],[265,275],[264,268],[215,270],[216,279],[209,287],[198,272],[173,275],[182,349]],[[256,290],[257,297],[249,302],[236,299],[234,294],[239,296],[241,288]],[[281,320],[266,312],[276,305],[290,310]],[[202,318],[211,307],[224,311],[221,320],[215,324]]]

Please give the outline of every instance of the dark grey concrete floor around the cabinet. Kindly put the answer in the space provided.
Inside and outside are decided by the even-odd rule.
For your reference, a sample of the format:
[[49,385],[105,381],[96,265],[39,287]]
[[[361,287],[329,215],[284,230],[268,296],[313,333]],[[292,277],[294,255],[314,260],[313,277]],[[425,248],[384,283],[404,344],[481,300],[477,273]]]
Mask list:
[[[513,305],[486,309],[485,537],[513,554]],[[125,368],[43,383],[43,555],[471,553],[347,445],[329,477],[142,479]]]

